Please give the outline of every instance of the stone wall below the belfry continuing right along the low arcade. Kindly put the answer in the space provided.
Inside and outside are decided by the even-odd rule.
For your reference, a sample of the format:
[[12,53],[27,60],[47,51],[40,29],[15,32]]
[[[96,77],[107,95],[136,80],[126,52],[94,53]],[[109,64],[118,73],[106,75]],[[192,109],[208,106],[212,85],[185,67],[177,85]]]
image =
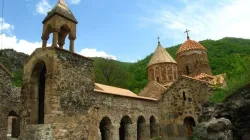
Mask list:
[[[32,71],[38,61],[47,68],[45,87],[45,122],[33,124],[32,112]],[[22,133],[23,139],[32,139],[37,135],[44,139],[100,139],[99,123],[108,117],[112,124],[112,138],[118,139],[120,121],[129,116],[130,139],[137,137],[137,119],[146,120],[144,134],[149,138],[149,119],[154,116],[158,121],[158,108],[155,101],[134,99],[94,92],[93,63],[88,58],[72,54],[59,48],[37,49],[24,68],[24,86],[22,90]],[[51,124],[48,126],[48,124]],[[48,128],[46,132],[42,128]],[[45,133],[48,135],[42,135]]]

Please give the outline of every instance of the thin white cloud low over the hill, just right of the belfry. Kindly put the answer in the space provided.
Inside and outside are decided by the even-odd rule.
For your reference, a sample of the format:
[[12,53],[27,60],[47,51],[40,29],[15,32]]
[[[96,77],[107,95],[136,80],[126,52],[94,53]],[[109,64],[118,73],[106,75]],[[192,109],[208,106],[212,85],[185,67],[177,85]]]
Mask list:
[[96,49],[89,49],[85,48],[82,49],[79,54],[86,56],[86,57],[103,57],[103,58],[112,58],[116,60],[116,57],[114,55],[107,54],[104,51],[97,51]]

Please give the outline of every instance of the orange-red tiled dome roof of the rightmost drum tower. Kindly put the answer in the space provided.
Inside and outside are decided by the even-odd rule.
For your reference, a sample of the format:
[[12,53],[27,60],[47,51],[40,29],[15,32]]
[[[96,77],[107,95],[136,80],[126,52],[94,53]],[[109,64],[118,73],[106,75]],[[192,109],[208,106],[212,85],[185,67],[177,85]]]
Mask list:
[[187,41],[185,41],[181,47],[177,50],[176,54],[188,51],[188,50],[207,50],[205,47],[203,47],[200,43],[190,40],[189,37],[187,38]]

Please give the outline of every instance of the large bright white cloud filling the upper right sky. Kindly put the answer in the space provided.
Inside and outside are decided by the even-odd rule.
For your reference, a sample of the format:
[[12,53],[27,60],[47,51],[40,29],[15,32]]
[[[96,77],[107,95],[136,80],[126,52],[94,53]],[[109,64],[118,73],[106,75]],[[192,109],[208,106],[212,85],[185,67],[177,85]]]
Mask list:
[[[185,29],[190,29],[194,40],[220,39],[223,37],[250,38],[249,0],[199,0],[186,1],[176,8],[155,8],[150,17],[142,17],[142,23],[156,27],[165,39],[174,43],[184,40]],[[163,7],[163,8],[162,8]]]

